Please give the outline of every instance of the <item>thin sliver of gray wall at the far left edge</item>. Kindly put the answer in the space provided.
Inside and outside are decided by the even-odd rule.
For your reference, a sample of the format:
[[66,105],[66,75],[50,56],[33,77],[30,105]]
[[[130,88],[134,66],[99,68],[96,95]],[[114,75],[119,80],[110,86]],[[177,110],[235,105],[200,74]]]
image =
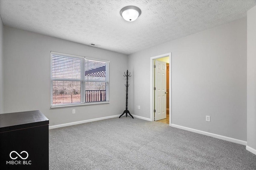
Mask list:
[[0,16],[0,113],[3,113],[3,36],[4,25]]

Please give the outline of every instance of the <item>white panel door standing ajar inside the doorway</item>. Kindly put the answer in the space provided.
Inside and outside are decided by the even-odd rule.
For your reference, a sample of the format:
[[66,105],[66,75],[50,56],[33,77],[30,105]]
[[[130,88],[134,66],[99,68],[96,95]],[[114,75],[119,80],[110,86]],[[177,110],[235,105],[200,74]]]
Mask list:
[[166,118],[166,63],[155,61],[155,121]]

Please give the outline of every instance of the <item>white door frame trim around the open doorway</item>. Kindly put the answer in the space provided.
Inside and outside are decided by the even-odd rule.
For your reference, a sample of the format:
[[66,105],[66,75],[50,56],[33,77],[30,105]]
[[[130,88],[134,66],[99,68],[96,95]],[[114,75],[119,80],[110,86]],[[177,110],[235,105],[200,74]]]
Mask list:
[[[166,54],[163,54],[163,55],[158,55],[158,56],[155,56],[155,57],[150,57],[150,120],[151,121],[154,121],[154,59],[159,59],[159,58],[162,58],[162,57],[168,57],[169,56],[169,67],[170,67],[170,70],[172,70],[172,53],[166,53]],[[172,79],[171,79],[171,75],[172,75],[172,71],[170,71],[169,73],[169,125],[171,126],[171,113],[172,113],[172,98],[171,98],[171,94],[172,94]]]

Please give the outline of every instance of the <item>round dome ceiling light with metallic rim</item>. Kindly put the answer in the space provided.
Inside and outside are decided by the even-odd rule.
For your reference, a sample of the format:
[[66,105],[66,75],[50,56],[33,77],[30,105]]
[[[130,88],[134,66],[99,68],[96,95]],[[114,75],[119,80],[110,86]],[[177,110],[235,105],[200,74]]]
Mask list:
[[140,8],[136,6],[126,6],[120,10],[120,15],[126,21],[135,21],[141,14]]

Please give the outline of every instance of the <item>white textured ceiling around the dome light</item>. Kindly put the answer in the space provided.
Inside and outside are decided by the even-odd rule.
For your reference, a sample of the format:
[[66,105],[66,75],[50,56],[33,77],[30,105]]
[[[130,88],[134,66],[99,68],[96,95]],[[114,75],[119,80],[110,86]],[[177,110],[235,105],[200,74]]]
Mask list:
[[[119,14],[141,9],[134,22]],[[0,0],[6,26],[124,54],[246,17],[255,0]]]

